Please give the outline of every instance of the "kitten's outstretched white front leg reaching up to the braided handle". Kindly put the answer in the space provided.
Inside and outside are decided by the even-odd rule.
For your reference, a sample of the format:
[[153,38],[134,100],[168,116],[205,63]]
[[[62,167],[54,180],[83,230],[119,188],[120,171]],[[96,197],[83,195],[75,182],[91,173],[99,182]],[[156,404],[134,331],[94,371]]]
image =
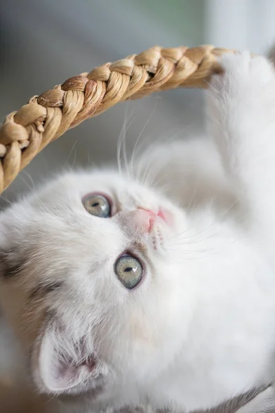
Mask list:
[[248,222],[275,242],[274,67],[248,52],[223,56],[221,66],[208,92],[210,130]]

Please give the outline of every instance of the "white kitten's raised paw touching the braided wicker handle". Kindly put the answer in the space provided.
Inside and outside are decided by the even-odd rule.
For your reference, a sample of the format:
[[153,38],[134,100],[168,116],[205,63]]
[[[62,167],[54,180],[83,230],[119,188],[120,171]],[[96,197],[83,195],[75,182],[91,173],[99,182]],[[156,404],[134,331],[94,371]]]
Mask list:
[[263,56],[250,52],[230,53],[219,59],[222,73],[212,76],[210,91],[216,95],[239,96],[241,92],[255,96],[265,85],[275,82],[274,66]]

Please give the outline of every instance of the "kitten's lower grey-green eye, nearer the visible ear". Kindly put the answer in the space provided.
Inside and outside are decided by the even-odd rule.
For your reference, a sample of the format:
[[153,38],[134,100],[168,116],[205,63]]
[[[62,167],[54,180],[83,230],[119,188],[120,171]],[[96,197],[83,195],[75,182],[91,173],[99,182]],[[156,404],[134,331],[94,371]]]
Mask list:
[[124,287],[131,290],[142,279],[143,269],[142,264],[131,255],[122,255],[115,262],[115,274],[124,285]]

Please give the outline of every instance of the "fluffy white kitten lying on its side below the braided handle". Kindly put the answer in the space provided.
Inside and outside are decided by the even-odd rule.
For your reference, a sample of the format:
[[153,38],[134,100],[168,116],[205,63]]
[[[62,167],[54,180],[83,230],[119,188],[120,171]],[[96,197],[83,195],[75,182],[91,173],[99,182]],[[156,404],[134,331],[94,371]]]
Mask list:
[[221,63],[218,151],[174,143],[137,165],[166,198],[116,171],[68,173],[0,215],[1,304],[56,411],[189,412],[274,379],[275,74],[248,53]]

